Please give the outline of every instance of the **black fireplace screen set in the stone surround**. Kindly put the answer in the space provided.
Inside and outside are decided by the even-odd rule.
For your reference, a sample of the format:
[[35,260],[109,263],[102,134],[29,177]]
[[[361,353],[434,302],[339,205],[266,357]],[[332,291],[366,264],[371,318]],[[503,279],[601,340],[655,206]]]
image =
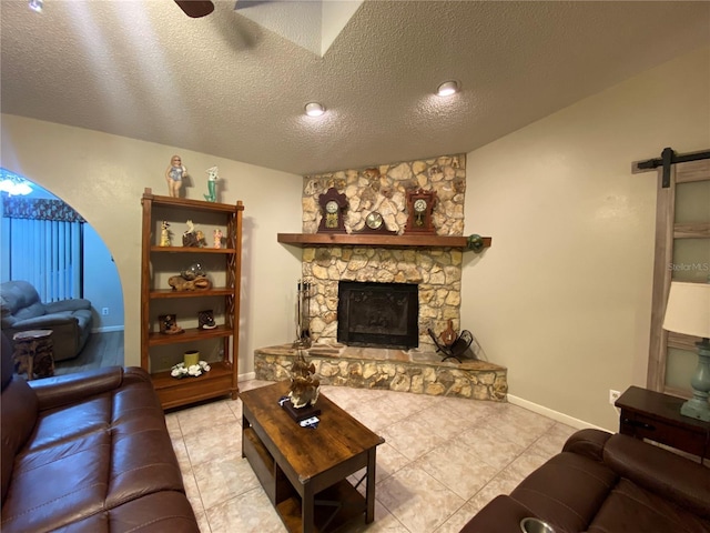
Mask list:
[[337,340],[354,346],[419,345],[416,283],[338,283]]

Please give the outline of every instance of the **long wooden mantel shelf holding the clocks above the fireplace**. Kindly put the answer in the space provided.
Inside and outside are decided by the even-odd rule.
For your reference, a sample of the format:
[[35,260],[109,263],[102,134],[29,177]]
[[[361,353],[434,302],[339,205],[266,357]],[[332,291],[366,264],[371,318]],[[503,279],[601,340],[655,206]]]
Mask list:
[[[278,242],[300,247],[468,248],[468,237],[377,235],[352,233],[278,233]],[[484,237],[484,248],[493,239]]]

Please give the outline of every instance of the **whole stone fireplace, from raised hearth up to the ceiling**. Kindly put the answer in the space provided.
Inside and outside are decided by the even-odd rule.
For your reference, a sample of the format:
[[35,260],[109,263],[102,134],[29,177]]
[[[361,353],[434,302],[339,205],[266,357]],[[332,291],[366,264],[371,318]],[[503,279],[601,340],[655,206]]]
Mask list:
[[[464,234],[465,154],[306,175],[304,234],[317,232],[318,198],[329,188],[347,199],[347,233],[363,232],[366,217],[376,211],[389,232],[403,234],[406,192],[425,189],[436,191],[436,234]],[[397,247],[396,239],[379,247],[304,244],[302,276],[310,286],[306,315],[313,341],[307,356],[321,383],[505,401],[505,368],[479,360],[443,362],[428,334],[428,330],[440,333],[449,321],[457,331],[466,329],[460,320],[463,254],[462,248]],[[398,293],[375,291],[379,284],[390,291],[405,286],[416,291],[404,300]],[[353,293],[353,286],[359,292]],[[365,300],[375,303],[365,311],[355,309]],[[385,304],[393,308],[384,311]],[[385,334],[392,332],[396,339]],[[288,379],[295,355],[291,344],[256,350],[256,378]]]

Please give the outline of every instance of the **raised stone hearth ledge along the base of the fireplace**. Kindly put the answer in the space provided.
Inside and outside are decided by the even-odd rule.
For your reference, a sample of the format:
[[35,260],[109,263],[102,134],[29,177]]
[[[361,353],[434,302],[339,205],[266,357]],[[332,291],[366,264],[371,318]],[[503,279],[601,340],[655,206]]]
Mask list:
[[[387,350],[314,344],[306,360],[316,368],[324,385],[354,389],[384,389],[433,396],[506,402],[508,370],[480,360],[442,361],[442,355],[418,350]],[[296,349],[291,344],[254,351],[257,380],[284,381],[291,378]]]

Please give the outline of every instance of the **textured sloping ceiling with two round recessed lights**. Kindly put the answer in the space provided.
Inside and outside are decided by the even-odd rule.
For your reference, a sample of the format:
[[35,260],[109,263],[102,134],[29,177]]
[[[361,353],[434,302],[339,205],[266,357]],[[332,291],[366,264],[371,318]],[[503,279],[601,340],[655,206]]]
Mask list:
[[321,57],[215,3],[2,0],[2,112],[307,174],[470,151],[710,44],[709,2],[373,0]]

